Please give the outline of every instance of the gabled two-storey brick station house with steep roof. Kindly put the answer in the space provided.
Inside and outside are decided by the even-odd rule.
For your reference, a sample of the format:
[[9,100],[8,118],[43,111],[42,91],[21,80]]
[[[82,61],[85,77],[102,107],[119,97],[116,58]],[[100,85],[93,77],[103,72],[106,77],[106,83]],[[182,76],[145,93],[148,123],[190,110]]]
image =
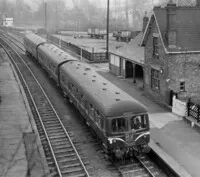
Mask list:
[[195,7],[154,7],[142,37],[144,89],[166,105],[200,96],[200,0]]

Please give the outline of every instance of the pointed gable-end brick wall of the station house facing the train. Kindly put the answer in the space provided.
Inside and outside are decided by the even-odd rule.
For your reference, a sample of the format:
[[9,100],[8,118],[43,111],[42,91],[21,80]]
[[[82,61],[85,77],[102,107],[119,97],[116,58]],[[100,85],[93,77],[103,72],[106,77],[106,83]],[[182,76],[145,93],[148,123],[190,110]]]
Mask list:
[[[158,28],[155,22],[152,25],[152,29],[149,32],[149,36],[145,46],[145,67],[144,67],[144,88],[146,93],[152,95],[156,100],[162,100],[162,102],[168,102],[168,83],[166,79],[168,78],[168,67],[167,67],[167,56],[165,54],[161,38],[158,38],[159,46],[159,58],[153,57],[153,33],[158,33]],[[160,78],[160,89],[151,88],[151,68],[161,70],[163,73],[159,74]]]

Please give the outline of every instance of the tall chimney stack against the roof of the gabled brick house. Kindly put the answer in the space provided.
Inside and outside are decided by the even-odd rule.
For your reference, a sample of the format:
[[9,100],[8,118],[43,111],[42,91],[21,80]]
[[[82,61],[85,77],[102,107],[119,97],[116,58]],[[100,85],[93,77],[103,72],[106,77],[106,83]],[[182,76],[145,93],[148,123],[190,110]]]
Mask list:
[[176,48],[176,4],[170,0],[167,10],[167,40],[169,48]]

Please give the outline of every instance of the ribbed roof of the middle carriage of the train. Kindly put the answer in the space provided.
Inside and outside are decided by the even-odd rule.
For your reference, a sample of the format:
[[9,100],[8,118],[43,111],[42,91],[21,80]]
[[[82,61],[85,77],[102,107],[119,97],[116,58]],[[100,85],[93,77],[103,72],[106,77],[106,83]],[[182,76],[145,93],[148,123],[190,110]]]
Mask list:
[[69,55],[59,47],[49,43],[41,45],[38,48],[38,51],[45,53],[45,55],[56,65],[66,60],[77,60],[75,57]]

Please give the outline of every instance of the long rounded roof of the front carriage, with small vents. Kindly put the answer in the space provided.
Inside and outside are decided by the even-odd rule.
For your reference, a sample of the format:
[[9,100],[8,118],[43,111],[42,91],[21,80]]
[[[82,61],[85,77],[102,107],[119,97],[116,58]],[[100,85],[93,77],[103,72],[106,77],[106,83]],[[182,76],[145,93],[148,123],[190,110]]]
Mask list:
[[90,65],[79,61],[69,62],[61,67],[102,114],[107,117],[123,113],[147,112],[145,106],[99,75]]

